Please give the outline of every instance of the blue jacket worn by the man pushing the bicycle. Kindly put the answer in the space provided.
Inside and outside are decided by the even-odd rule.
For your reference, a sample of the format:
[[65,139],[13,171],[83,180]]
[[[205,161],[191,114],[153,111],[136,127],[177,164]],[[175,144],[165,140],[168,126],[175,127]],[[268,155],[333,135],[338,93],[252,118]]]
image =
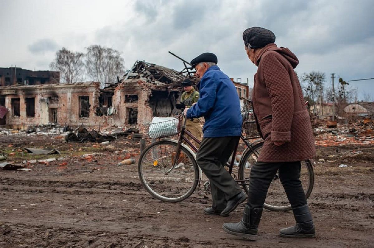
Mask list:
[[200,80],[200,98],[187,110],[187,118],[204,117],[204,138],[240,136],[240,102],[231,79],[211,66]]

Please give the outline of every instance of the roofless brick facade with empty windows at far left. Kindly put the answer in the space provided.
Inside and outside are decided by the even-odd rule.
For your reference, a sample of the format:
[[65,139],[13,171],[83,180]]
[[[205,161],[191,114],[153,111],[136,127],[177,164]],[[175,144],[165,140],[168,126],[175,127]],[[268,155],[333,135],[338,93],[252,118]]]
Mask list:
[[0,88],[0,106],[8,109],[1,125],[91,125],[98,83],[12,85]]

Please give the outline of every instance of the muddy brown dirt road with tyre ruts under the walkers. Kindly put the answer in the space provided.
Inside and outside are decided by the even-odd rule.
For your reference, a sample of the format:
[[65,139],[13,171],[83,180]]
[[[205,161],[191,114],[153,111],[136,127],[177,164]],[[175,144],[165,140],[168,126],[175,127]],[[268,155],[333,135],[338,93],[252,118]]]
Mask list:
[[[256,242],[221,229],[237,222],[207,216],[209,192],[198,188],[181,203],[153,199],[142,187],[128,139],[102,144],[64,143],[56,136],[0,136],[8,161],[56,157],[30,163],[30,171],[0,170],[0,247],[374,247],[374,148],[318,147],[315,187],[309,199],[317,236],[286,239],[278,229],[293,225],[291,212],[264,211]],[[36,157],[22,148],[52,147],[60,155]],[[359,151],[359,152],[358,152]],[[82,156],[84,154],[93,154]],[[347,168],[338,167],[347,164]]]

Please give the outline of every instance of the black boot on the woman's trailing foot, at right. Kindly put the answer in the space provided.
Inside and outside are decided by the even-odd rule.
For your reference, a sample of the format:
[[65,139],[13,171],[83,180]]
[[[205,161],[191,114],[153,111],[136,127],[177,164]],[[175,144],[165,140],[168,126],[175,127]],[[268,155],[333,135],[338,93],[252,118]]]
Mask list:
[[292,208],[296,224],[279,230],[279,235],[286,238],[313,238],[316,235],[312,214],[308,205]]

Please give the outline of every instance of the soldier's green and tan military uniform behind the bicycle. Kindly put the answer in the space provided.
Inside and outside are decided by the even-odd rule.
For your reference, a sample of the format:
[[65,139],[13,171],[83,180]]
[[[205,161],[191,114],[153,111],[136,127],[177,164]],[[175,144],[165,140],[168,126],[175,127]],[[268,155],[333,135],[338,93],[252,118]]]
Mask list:
[[[199,92],[197,92],[194,88],[190,92],[184,91],[181,96],[181,103],[186,105],[186,108],[190,108],[192,104],[197,103],[199,100]],[[198,118],[193,120],[187,119],[186,120],[186,129],[190,132],[193,136],[201,141],[203,137],[203,132],[201,130],[200,121]],[[194,142],[196,144],[196,142]],[[200,145],[196,144],[196,147],[199,148]]]

